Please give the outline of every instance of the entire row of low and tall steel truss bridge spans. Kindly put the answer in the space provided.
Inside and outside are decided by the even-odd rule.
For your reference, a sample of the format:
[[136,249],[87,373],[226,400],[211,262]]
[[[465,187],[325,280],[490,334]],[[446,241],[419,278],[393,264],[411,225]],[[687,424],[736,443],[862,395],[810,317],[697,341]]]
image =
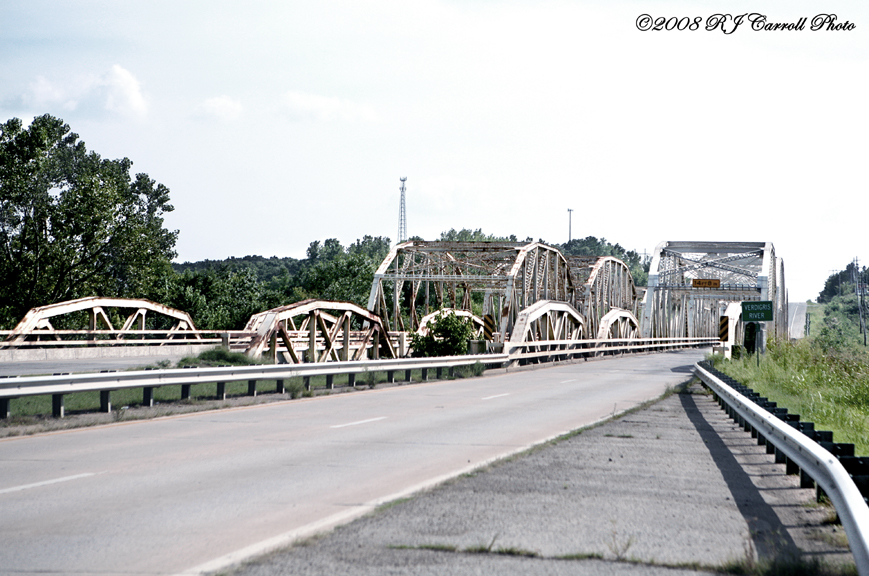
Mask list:
[[[34,308],[0,348],[195,342],[290,364],[390,359],[406,356],[409,334],[425,332],[446,310],[472,321],[490,352],[518,346],[543,354],[641,337],[709,343],[719,317],[738,317],[734,303],[746,300],[774,301],[769,336],[787,334],[783,265],[769,243],[663,242],[641,296],[629,267],[611,256],[565,257],[539,242],[411,241],[378,267],[366,308],[306,300],[255,314],[242,331],[207,332],[185,312],[154,302],[83,298]],[[76,314],[86,327],[59,330],[50,321]],[[161,328],[146,330],[146,315]],[[731,327],[730,336],[738,335]]]

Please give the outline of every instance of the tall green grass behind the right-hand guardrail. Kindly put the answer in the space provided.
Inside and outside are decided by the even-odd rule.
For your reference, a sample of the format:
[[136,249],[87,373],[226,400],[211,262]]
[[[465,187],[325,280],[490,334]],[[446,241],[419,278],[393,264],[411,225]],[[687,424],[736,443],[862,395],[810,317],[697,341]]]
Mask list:
[[770,343],[754,355],[716,367],[753,388],[817,430],[832,430],[836,442],[869,454],[869,353],[856,348],[824,348],[804,339]]

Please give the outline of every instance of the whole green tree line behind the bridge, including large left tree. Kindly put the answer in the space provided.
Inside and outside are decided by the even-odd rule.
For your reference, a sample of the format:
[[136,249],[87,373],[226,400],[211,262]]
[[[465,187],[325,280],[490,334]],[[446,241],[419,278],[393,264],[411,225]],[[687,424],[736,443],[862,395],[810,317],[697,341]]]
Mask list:
[[[348,246],[313,241],[302,259],[173,264],[178,231],[163,221],[174,210],[169,189],[132,175],[132,165],[88,151],[47,114],[26,127],[17,118],[0,124],[0,326],[14,327],[30,308],[86,296],[146,298],[190,313],[206,330],[241,329],[254,313],[306,298],[367,304],[388,237],[366,235]],[[439,239],[518,241],[480,229],[450,229]],[[621,258],[645,283],[648,259],[618,244],[589,236],[551,245]]]

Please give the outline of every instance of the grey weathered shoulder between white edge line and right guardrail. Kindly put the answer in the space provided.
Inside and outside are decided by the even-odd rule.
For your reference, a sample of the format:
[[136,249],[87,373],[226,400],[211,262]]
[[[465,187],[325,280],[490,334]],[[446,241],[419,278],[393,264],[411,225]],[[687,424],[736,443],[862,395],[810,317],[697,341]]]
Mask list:
[[231,573],[681,575],[798,557],[849,573],[834,516],[693,386]]

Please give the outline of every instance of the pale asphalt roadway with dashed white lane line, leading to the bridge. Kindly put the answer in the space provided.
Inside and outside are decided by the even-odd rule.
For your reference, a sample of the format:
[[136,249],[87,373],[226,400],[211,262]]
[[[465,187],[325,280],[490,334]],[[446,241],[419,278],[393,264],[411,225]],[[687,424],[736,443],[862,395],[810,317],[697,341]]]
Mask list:
[[0,571],[201,573],[685,381],[606,359],[0,441]]

